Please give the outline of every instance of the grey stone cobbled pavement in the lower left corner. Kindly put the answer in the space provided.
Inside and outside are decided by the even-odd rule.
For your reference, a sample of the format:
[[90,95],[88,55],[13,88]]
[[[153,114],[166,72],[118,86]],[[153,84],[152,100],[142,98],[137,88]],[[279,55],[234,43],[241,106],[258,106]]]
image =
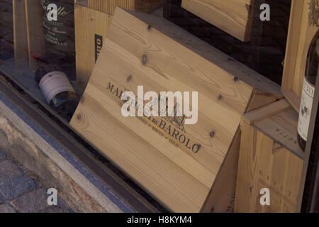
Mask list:
[[0,213],[72,212],[60,199],[57,206],[49,206],[48,196],[38,176],[0,150]]

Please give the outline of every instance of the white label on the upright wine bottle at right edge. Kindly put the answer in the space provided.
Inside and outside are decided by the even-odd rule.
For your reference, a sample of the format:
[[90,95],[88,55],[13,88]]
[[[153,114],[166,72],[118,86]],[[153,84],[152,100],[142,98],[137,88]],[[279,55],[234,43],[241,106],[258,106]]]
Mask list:
[[298,120],[298,133],[307,141],[308,130],[310,125],[310,114],[313,107],[313,96],[315,87],[305,78],[303,81],[303,94],[301,96],[301,106]]

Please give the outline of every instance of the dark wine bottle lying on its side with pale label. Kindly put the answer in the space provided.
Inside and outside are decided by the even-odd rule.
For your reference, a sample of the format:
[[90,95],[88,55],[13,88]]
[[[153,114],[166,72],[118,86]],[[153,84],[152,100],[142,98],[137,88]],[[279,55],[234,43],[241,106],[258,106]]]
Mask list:
[[35,82],[38,83],[47,104],[70,120],[79,104],[79,96],[67,75],[59,70],[57,65],[41,66],[35,71]]

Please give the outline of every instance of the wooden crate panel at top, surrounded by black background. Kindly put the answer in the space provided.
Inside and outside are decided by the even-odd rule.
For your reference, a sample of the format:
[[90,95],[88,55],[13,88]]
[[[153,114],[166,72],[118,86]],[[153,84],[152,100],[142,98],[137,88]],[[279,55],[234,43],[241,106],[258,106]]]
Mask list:
[[254,0],[182,0],[181,6],[244,42],[252,31]]

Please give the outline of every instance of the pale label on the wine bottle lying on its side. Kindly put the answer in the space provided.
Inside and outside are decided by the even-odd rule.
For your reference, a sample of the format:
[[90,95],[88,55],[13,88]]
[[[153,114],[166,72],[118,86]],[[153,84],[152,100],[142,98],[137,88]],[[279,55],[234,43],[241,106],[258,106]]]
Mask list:
[[45,74],[40,80],[39,87],[48,104],[54,96],[61,92],[74,92],[67,76],[63,72],[57,71]]

